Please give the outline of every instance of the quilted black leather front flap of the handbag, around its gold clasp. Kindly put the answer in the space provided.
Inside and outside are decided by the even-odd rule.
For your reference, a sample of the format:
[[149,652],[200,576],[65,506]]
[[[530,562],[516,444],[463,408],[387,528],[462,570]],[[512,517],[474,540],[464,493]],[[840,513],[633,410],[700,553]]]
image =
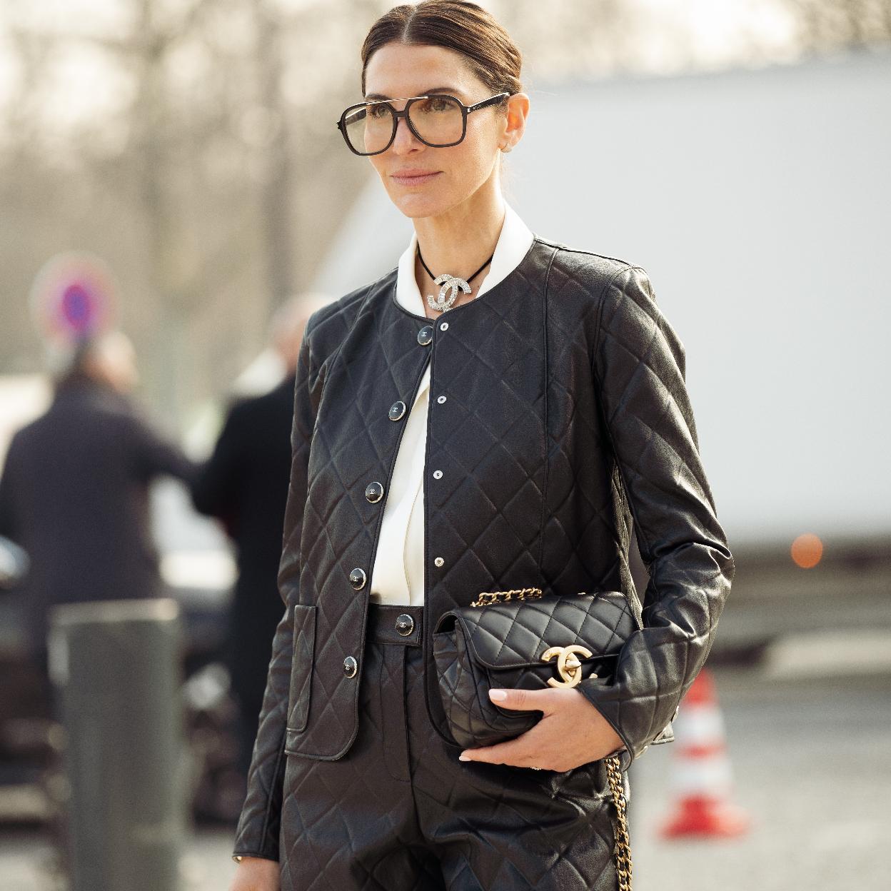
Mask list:
[[453,621],[471,657],[487,668],[541,665],[545,650],[576,644],[591,650],[593,658],[615,656],[637,629],[619,591],[460,607],[440,618],[437,632]]

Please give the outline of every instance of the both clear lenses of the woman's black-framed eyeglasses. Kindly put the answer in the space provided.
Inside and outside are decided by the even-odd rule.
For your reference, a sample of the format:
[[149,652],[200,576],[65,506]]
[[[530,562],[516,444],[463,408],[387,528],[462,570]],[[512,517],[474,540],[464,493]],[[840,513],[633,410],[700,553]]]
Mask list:
[[[450,145],[462,137],[461,106],[448,96],[430,96],[408,103],[408,117],[429,145]],[[388,102],[370,102],[350,111],[344,128],[354,150],[372,154],[387,148],[393,121],[393,107]]]

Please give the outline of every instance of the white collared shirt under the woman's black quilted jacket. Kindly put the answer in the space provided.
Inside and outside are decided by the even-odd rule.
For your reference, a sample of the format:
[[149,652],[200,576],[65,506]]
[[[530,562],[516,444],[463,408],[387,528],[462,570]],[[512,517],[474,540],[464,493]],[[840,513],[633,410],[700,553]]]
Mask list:
[[[504,222],[495,245],[495,255],[473,299],[494,288],[511,274],[535,240],[535,235],[517,212],[507,201],[503,204]],[[396,300],[410,313],[426,317],[426,299],[421,297],[414,278],[417,245],[418,236],[413,233],[408,247],[399,257]],[[429,383],[428,364],[405,420],[405,432],[396,455],[396,467],[384,504],[378,549],[372,564],[370,591],[374,603],[421,606],[424,602],[423,479]]]

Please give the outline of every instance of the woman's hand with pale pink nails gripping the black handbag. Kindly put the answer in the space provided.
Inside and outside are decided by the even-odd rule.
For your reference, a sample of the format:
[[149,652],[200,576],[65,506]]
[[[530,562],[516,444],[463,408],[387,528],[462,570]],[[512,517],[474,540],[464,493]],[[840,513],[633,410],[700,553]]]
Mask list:
[[462,761],[563,772],[625,747],[609,721],[581,691],[490,690],[489,698],[502,708],[537,709],[544,716],[535,727],[513,740],[465,749],[460,756]]

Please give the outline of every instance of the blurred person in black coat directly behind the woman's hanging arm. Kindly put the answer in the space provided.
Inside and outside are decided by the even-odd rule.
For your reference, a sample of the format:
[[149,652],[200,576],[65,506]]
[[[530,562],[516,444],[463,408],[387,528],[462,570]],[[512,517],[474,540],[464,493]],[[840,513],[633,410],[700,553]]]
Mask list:
[[274,315],[270,334],[284,376],[262,396],[233,400],[213,454],[192,487],[196,510],[223,522],[238,555],[227,660],[239,708],[242,778],[257,736],[275,626],[282,618],[278,568],[300,341],[309,315],[327,302],[319,295],[296,297]]

